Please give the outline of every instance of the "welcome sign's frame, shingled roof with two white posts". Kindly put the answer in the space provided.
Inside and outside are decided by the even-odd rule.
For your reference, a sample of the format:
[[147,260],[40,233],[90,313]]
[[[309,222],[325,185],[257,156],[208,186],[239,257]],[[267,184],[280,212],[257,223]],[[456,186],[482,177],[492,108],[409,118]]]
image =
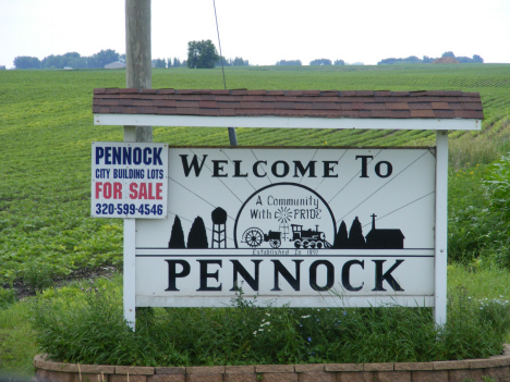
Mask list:
[[[124,141],[135,141],[135,126],[144,125],[435,131],[434,317],[437,324],[446,323],[448,131],[481,130],[483,108],[478,94],[174,89],[95,89],[94,93],[95,124],[124,125]],[[231,104],[233,109],[228,109]],[[255,110],[257,107],[266,109]],[[124,317],[133,329],[135,233],[136,220],[124,219]]]

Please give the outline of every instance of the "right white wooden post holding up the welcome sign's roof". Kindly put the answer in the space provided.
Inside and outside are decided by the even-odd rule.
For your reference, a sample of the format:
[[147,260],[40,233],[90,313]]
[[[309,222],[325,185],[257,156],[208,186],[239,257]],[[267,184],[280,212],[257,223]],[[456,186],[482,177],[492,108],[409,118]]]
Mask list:
[[436,324],[447,321],[448,266],[448,131],[436,132],[436,227],[435,227],[435,308]]

